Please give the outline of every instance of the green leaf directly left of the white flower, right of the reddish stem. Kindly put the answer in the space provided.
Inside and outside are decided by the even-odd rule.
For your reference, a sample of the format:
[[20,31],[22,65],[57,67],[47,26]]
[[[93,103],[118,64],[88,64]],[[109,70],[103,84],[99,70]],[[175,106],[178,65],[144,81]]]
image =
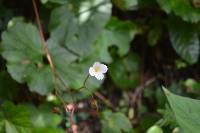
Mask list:
[[89,67],[93,64],[96,58],[91,56],[89,58],[85,58],[84,60],[77,61],[79,58],[71,54],[67,49],[60,47],[55,42],[49,42],[48,44],[49,47],[55,44],[55,47],[50,48],[50,52],[56,66],[57,73],[65,84],[63,86],[63,83],[58,83],[59,88],[62,90],[70,88],[72,90],[71,93],[63,93],[67,101],[87,97],[100,86],[101,82],[94,78],[89,78],[86,83],[89,91],[85,91],[84,89],[81,91],[77,90],[82,87],[83,82],[88,75]]

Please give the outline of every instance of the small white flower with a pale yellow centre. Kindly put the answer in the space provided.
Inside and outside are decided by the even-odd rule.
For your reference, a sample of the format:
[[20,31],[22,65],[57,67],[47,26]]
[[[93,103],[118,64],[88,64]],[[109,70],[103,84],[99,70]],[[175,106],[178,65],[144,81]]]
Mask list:
[[108,67],[99,62],[95,62],[92,67],[89,69],[89,74],[95,76],[98,80],[104,78],[104,74],[108,71]]

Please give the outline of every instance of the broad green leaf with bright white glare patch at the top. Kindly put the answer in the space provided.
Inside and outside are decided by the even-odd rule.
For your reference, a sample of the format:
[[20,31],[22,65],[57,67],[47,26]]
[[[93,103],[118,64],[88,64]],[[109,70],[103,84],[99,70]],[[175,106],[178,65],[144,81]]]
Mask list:
[[78,56],[87,56],[110,18],[111,3],[83,1],[77,13],[68,6],[54,9],[50,19],[51,39]]

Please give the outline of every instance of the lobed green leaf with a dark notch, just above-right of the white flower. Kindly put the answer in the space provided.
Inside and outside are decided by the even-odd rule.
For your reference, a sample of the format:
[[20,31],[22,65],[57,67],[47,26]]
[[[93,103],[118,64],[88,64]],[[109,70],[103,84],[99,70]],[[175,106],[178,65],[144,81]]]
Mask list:
[[136,24],[129,21],[120,21],[112,18],[96,42],[100,60],[111,63],[112,58],[109,54],[109,47],[117,46],[119,56],[128,53],[130,42],[138,32]]

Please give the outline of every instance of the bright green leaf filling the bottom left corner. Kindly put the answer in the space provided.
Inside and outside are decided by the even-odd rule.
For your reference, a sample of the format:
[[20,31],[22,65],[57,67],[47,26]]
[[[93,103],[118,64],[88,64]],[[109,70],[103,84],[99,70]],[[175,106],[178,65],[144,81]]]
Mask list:
[[5,133],[31,133],[29,118],[26,108],[6,102],[0,110],[0,131]]

